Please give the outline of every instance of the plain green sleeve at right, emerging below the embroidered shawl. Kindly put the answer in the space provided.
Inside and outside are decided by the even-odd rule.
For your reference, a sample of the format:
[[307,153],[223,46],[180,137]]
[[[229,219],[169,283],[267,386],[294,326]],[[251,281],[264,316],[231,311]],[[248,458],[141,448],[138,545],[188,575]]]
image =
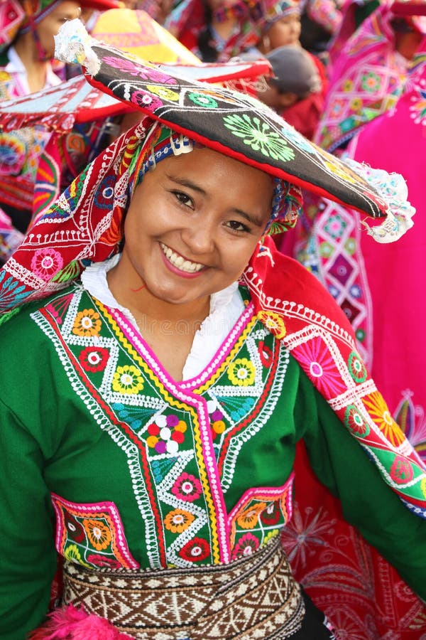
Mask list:
[[345,520],[426,599],[426,520],[414,515],[301,372],[297,402],[312,470],[339,498]]

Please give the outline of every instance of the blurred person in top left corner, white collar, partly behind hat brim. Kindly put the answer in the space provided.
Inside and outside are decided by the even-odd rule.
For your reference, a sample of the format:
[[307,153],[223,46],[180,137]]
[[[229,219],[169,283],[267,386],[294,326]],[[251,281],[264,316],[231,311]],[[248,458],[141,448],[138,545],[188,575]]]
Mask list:
[[[105,8],[115,0],[5,0],[0,14],[0,97],[29,95],[59,85],[53,70],[54,36],[67,20],[80,15],[81,6]],[[25,233],[33,211],[38,161],[50,133],[27,127],[0,133],[0,206],[11,224]]]

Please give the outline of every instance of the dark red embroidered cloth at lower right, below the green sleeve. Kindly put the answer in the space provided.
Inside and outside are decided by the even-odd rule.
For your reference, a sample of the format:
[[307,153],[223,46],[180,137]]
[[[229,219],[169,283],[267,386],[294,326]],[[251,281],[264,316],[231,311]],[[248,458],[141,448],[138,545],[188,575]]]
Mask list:
[[336,637],[424,638],[425,603],[347,523],[342,505],[312,474],[302,443],[295,475],[293,518],[281,540],[295,577],[332,621]]

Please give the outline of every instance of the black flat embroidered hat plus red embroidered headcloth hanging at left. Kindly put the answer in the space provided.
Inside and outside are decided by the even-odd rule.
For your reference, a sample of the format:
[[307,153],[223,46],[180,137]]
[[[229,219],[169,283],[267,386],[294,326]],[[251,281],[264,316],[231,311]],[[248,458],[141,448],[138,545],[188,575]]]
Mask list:
[[[351,169],[249,95],[144,63],[92,41],[85,31],[84,45],[79,28],[84,31],[80,21],[61,28],[72,35],[65,43],[67,56],[73,50],[71,59],[84,62],[87,80],[141,112],[141,122],[88,164],[28,230],[0,270],[3,319],[24,302],[66,287],[89,262],[102,262],[119,251],[136,169],[146,171],[164,154],[182,153],[197,142],[275,177],[268,233],[280,220],[293,225],[300,188],[385,218],[368,229],[379,242],[396,240],[412,225],[414,209],[398,174],[363,169],[358,163]],[[57,55],[62,54],[57,50]],[[170,129],[170,144],[164,140],[157,149],[156,136],[164,127]]]

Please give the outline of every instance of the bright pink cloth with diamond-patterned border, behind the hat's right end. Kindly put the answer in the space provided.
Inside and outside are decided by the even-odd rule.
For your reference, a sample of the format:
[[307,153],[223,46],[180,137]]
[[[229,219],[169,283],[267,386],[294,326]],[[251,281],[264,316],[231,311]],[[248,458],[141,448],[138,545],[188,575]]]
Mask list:
[[[393,112],[368,124],[349,147],[355,159],[404,172],[420,228],[393,245],[391,251],[381,247],[378,252],[364,237],[358,214],[333,203],[323,202],[320,209],[312,203],[311,208],[305,208],[308,230],[300,225],[296,249],[300,262],[317,274],[344,309],[364,361],[386,392],[393,417],[423,459],[426,386],[421,372],[426,353],[422,353],[423,343],[417,339],[416,323],[426,313],[420,293],[420,274],[426,264],[422,164],[418,162],[426,151],[425,52],[426,38],[413,59],[405,92]],[[383,287],[384,278],[391,286]],[[391,323],[386,321],[389,316],[393,318]],[[398,333],[402,322],[405,326],[413,322],[403,340]]]

